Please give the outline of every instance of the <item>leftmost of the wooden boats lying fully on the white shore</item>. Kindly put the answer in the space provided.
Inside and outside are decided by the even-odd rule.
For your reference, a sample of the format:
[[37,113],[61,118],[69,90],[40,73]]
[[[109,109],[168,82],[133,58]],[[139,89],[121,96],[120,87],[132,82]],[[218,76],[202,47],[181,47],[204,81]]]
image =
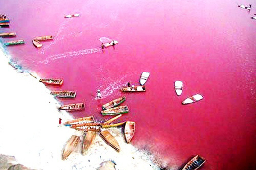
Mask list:
[[62,159],[66,159],[77,147],[78,143],[80,142],[80,137],[72,135],[71,138],[69,139],[63,154],[62,154]]

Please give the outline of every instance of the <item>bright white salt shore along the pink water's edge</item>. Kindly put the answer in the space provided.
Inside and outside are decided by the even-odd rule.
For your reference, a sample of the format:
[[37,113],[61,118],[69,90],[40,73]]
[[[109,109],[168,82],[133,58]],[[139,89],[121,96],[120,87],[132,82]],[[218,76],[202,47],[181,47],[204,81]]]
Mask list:
[[116,170],[159,169],[152,155],[125,142],[121,128],[109,129],[120,145],[119,153],[97,135],[85,156],[81,154],[80,142],[78,149],[62,160],[68,139],[72,135],[82,139],[81,132],[58,127],[59,117],[62,122],[73,118],[67,112],[58,111],[58,101],[39,79],[8,65],[9,58],[1,48],[0,43],[0,154],[14,156],[13,164],[43,170],[95,170],[102,162],[112,160]]

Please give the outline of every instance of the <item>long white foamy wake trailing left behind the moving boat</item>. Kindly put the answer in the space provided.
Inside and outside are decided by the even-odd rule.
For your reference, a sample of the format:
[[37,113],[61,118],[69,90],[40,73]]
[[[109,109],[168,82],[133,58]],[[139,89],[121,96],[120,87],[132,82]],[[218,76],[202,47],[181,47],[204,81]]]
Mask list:
[[81,56],[86,54],[93,54],[100,52],[101,49],[99,48],[92,48],[92,49],[84,49],[84,50],[78,50],[78,51],[71,51],[71,52],[65,52],[60,54],[54,54],[49,57],[46,57],[44,60],[39,61],[39,64],[48,64],[50,61],[58,60],[61,58],[67,58],[67,57],[74,57],[74,56]]

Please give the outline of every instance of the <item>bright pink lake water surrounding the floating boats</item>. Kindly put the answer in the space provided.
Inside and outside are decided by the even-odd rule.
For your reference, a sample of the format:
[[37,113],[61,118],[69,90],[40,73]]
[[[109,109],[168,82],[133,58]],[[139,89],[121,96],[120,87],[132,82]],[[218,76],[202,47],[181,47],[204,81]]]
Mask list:
[[[241,2],[253,3],[252,0]],[[130,112],[120,121],[137,125],[135,146],[150,150],[172,169],[200,154],[211,170],[247,170],[255,167],[256,22],[237,2],[33,0],[0,1],[10,28],[26,45],[8,47],[13,59],[42,78],[63,78],[52,90],[77,90],[85,102],[74,117],[101,116],[101,105],[126,96]],[[79,13],[77,18],[64,18]],[[40,49],[32,37],[53,35]],[[100,37],[119,41],[100,49]],[[143,71],[151,73],[147,91],[124,94],[130,81],[139,84]],[[184,90],[176,96],[173,82]],[[102,99],[96,100],[101,89]],[[200,93],[204,99],[182,105]],[[35,94],[36,95],[36,94]],[[56,122],[57,123],[57,122]]]

